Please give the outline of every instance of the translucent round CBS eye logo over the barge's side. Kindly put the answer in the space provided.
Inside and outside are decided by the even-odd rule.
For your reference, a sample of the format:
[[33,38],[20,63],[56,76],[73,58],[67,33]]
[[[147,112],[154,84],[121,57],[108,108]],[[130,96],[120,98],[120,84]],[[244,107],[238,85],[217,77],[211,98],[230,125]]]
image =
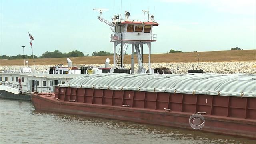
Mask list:
[[192,114],[188,122],[191,128],[193,128],[194,130],[199,130],[204,126],[205,120],[201,114]]

